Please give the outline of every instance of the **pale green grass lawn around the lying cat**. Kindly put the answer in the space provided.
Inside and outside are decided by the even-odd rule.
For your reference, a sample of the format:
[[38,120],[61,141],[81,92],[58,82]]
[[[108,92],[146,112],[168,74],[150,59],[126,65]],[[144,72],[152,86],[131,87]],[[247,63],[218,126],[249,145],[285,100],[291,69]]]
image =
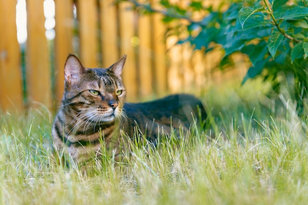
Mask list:
[[132,143],[127,163],[106,157],[86,173],[55,163],[48,110],[2,113],[0,204],[305,204],[308,121],[296,115],[287,91],[278,104],[256,85],[205,92],[211,121],[205,132],[162,139],[147,153]]

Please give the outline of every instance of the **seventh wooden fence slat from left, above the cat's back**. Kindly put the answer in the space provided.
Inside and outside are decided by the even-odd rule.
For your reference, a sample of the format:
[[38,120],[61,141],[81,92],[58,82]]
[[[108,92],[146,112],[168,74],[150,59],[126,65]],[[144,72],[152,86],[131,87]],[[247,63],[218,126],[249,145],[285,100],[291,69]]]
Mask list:
[[149,15],[139,16],[138,22],[140,94],[142,97],[153,93],[151,67],[151,21]]

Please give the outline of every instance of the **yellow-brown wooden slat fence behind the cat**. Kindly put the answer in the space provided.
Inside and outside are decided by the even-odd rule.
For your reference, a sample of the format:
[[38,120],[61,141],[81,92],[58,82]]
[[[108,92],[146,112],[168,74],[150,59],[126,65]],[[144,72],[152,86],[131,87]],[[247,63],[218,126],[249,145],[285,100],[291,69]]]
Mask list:
[[43,0],[27,0],[28,38],[25,55],[21,55],[16,3],[0,0],[2,110],[22,109],[33,103],[50,108],[59,105],[63,66],[69,53],[77,54],[86,67],[107,67],[127,54],[123,81],[129,101],[169,92],[201,91],[213,82],[245,73],[245,66],[239,73],[213,73],[215,62],[221,58],[219,52],[204,56],[192,52],[189,45],[174,46],[177,37],[165,38],[160,14],[138,16],[127,9],[129,3],[115,4],[114,0],[55,0],[54,41],[46,39]]

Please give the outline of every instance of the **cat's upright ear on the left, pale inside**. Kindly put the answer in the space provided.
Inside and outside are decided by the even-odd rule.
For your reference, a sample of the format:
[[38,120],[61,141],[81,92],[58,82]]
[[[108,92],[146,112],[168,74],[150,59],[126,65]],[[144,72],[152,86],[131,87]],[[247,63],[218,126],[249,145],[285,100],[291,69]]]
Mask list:
[[79,79],[79,76],[86,71],[75,55],[68,55],[64,64],[64,78],[66,82],[72,82]]

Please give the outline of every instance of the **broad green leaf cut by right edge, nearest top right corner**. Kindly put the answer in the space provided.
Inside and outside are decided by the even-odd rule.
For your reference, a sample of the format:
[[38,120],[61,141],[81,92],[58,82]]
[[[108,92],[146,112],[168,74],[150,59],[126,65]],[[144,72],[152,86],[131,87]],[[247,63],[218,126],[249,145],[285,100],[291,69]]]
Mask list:
[[308,16],[308,8],[304,6],[283,6],[274,12],[276,19],[297,20]]

